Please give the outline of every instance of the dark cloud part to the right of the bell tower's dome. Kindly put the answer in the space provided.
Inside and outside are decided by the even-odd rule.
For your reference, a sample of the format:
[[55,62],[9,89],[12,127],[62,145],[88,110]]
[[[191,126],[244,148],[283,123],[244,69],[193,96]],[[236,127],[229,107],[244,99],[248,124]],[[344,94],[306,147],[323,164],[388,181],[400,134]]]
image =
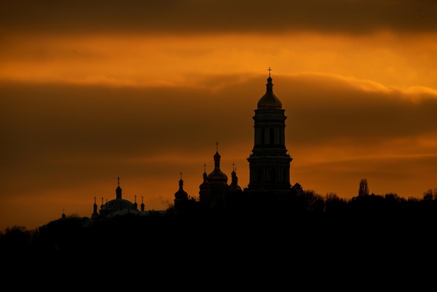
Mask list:
[[346,83],[321,75],[275,81],[286,85],[281,92],[286,91],[283,103],[288,104],[288,126],[299,137],[294,143],[323,143],[339,138],[375,143],[437,132],[433,113],[437,110],[436,96],[422,93],[414,101],[395,89],[367,91],[360,89],[359,82]]

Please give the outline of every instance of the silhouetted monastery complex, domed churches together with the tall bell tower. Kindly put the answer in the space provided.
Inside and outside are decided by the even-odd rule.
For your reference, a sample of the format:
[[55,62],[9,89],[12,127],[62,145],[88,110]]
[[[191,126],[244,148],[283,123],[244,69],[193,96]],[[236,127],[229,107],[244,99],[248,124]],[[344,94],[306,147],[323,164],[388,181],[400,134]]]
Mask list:
[[[270,69],[269,69],[270,71]],[[286,116],[282,103],[273,93],[272,77],[269,73],[265,94],[258,100],[254,110],[254,145],[249,162],[249,184],[242,189],[238,185],[238,177],[233,168],[228,184],[228,175],[220,168],[221,155],[218,153],[218,141],[214,154],[214,170],[207,174],[204,164],[203,181],[199,185],[199,200],[188,196],[184,191],[184,181],[179,180],[179,190],[175,193],[173,210],[176,214],[184,214],[196,210],[235,210],[242,207],[281,205],[290,197],[290,162],[285,145]],[[102,203],[100,210],[94,198],[94,212],[91,219],[113,217],[121,214],[145,214],[142,202],[131,203],[122,198],[119,177],[115,189],[116,198]]]

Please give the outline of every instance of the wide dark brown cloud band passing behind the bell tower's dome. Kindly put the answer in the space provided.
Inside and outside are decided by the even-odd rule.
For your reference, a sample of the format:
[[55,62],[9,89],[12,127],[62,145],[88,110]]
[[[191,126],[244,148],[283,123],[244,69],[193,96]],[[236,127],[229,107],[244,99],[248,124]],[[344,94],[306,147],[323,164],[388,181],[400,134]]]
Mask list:
[[[369,92],[322,75],[279,76],[274,84],[286,108],[293,144],[437,131],[435,96]],[[237,143],[250,138],[253,110],[264,92],[262,78],[214,91],[209,87],[2,85],[2,120],[8,127],[1,131],[11,151],[18,144],[29,152],[56,152],[60,147],[101,156],[111,156],[117,149],[119,155],[162,154],[161,145],[197,152],[221,137],[231,136]]]

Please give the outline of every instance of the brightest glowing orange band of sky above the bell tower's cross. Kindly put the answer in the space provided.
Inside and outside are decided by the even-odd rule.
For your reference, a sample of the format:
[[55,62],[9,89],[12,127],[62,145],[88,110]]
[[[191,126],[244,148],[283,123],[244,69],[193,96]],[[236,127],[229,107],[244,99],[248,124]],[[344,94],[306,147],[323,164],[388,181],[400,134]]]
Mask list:
[[253,74],[270,63],[281,75],[324,73],[402,90],[432,89],[437,78],[437,45],[429,35],[11,36],[7,41],[12,45],[3,48],[0,78],[8,81],[202,87],[187,82]]

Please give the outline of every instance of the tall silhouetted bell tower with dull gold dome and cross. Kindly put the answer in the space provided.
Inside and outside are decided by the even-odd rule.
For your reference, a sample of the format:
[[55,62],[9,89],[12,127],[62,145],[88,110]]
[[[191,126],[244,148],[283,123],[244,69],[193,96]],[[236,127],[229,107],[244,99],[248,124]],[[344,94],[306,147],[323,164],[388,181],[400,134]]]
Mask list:
[[[269,68],[270,71],[270,68]],[[250,193],[287,194],[290,191],[290,162],[285,145],[286,116],[282,103],[273,93],[272,77],[258,101],[254,121],[254,145],[249,161]]]

